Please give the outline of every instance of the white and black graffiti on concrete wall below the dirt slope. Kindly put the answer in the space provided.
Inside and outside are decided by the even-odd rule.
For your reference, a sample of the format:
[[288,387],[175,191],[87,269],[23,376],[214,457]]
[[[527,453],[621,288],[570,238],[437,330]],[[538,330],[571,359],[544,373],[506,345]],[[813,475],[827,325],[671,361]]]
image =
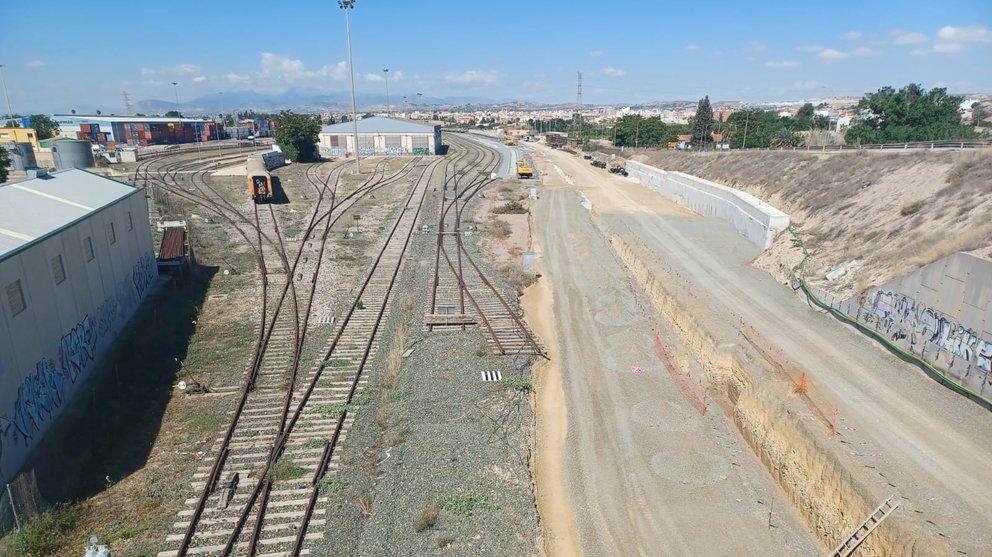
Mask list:
[[992,344],[963,323],[955,323],[913,298],[888,290],[875,290],[868,296],[860,316],[865,323],[876,323],[892,341],[906,341],[909,348],[922,351],[930,342],[937,349],[978,369],[992,371]]

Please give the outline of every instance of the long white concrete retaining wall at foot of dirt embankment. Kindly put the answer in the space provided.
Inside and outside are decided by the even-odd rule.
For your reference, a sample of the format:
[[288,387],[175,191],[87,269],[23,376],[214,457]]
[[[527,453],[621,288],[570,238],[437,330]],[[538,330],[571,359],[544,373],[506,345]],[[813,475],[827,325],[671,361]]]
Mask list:
[[627,162],[627,172],[679,205],[733,224],[761,249],[768,249],[775,235],[789,227],[789,215],[740,190],[634,161]]

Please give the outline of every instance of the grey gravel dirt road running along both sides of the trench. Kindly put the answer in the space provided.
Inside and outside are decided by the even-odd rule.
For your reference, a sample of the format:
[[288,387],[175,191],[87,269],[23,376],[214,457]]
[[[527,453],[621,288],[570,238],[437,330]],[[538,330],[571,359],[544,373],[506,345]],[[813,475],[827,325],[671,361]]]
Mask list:
[[[651,350],[658,317],[611,251],[614,236],[674,277],[669,286],[718,342],[743,342],[746,323],[808,374],[812,404],[840,433],[820,441],[872,496],[901,498],[892,520],[969,555],[992,547],[992,414],[752,268],[757,248],[726,223],[574,156],[533,149],[547,186],[534,220],[562,353],[563,469],[584,554],[822,551],[719,409],[700,416],[673,387]],[[678,352],[676,335],[661,330]]]

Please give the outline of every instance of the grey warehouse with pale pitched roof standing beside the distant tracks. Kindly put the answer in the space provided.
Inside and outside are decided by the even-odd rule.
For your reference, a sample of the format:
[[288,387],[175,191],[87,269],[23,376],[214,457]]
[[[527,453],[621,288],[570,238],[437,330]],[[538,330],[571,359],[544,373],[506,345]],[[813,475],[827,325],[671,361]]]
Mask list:
[[[355,152],[354,123],[320,129],[320,153],[343,157]],[[441,126],[373,117],[358,121],[358,154],[436,155],[441,150]]]

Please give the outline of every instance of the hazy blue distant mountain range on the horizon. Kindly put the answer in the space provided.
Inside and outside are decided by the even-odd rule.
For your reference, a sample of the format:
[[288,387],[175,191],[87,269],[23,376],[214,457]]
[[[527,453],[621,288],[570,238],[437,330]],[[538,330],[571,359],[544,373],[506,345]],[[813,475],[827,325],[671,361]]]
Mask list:
[[[467,105],[494,105],[502,104],[507,100],[494,100],[481,97],[418,97],[416,93],[407,94],[404,100],[403,94],[390,95],[389,104],[393,110],[436,110],[451,109],[453,107]],[[386,109],[386,95],[359,94],[357,97],[358,111],[367,112],[371,110]],[[131,105],[131,111],[142,114],[164,114],[176,109],[175,101],[148,99],[138,101]],[[267,95],[255,91],[224,91],[223,94],[214,94],[199,97],[196,99],[179,102],[179,111],[190,116],[200,114],[218,114],[224,112],[235,112],[254,110],[256,112],[279,112],[280,110],[296,111],[350,111],[351,93],[330,92],[330,93],[310,93],[299,90],[289,90],[285,93]]]

